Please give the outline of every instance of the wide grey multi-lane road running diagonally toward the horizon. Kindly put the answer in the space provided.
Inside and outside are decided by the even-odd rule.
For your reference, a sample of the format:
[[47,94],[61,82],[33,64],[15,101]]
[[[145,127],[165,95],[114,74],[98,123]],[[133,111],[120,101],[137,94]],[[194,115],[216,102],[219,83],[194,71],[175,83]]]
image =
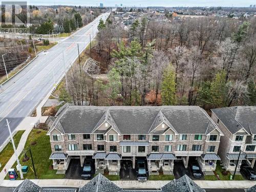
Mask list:
[[77,44],[80,52],[85,49],[90,43],[89,35],[96,36],[99,19],[105,20],[108,15],[100,15],[71,37],[59,41],[47,53],[40,53],[28,68],[4,84],[5,91],[0,94],[0,145],[9,137],[6,118],[11,122],[11,130],[15,130],[64,74],[62,51],[67,68],[78,57]]

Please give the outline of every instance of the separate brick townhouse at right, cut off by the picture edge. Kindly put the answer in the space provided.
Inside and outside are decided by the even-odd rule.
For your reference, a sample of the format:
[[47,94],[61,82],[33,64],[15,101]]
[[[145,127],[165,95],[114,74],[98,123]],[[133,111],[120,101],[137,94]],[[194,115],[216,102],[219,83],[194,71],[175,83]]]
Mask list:
[[240,170],[242,161],[253,167],[256,159],[256,106],[231,106],[211,111],[212,120],[224,134],[218,154],[225,169],[235,169],[240,150],[237,170]]

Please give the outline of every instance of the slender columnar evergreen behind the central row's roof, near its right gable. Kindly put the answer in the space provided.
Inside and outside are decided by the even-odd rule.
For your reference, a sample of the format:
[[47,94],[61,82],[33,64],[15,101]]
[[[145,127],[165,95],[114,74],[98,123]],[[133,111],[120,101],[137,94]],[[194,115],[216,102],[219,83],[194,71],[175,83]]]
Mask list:
[[162,101],[164,105],[175,105],[175,72],[173,66],[170,64],[163,73],[162,81]]

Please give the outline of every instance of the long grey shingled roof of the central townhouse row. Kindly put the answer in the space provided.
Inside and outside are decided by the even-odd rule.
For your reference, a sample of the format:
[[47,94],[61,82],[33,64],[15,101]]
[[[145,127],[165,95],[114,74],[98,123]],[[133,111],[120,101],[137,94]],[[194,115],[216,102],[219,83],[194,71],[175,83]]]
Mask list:
[[57,115],[51,130],[55,127],[63,134],[90,134],[104,120],[121,134],[148,134],[162,122],[179,134],[208,134],[218,129],[199,106],[66,105]]

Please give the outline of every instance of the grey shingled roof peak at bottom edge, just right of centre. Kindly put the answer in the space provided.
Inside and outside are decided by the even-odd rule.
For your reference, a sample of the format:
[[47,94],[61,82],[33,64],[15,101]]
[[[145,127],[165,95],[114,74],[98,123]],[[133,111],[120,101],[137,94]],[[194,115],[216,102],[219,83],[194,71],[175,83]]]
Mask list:
[[179,191],[179,192],[205,192],[204,189],[200,188],[193,180],[187,175],[182,176],[179,179],[167,183],[162,188],[163,192]]

